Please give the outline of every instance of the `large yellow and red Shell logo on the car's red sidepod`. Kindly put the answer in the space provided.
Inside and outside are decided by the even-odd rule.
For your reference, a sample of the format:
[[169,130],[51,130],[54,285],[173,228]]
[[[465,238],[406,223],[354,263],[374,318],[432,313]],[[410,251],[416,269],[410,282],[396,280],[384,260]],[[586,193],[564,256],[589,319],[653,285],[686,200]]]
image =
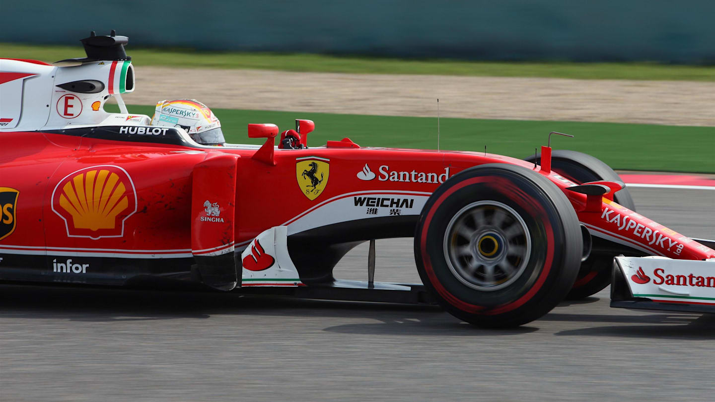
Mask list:
[[137,212],[137,190],[121,167],[86,167],[57,183],[51,207],[69,237],[122,237],[124,221]]

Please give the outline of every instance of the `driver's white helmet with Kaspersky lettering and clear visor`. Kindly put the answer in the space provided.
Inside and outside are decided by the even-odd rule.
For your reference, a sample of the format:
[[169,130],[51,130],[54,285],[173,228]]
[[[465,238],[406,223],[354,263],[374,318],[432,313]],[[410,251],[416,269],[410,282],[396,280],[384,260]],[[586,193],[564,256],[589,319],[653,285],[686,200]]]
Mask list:
[[150,124],[159,127],[181,127],[194,141],[203,145],[221,145],[226,142],[219,119],[211,109],[196,99],[158,102]]

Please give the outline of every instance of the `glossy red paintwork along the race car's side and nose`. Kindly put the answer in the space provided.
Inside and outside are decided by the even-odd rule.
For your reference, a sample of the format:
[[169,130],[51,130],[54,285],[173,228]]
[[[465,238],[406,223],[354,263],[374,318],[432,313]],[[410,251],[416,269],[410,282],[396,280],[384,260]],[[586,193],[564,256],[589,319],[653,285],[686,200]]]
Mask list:
[[[71,248],[107,255],[119,252],[147,255],[191,253],[191,250],[225,244],[223,240],[227,236],[232,236],[236,246],[241,247],[263,230],[283,225],[316,205],[349,192],[433,192],[438,187],[438,183],[391,182],[378,178],[360,180],[356,174],[366,164],[378,176],[379,167],[383,165],[389,166],[390,171],[435,174],[443,173],[448,168],[450,176],[485,163],[508,163],[534,169],[530,162],[481,152],[384,148],[277,149],[272,152],[272,147],[259,151],[216,147],[209,152],[197,152],[205,149],[42,132],[1,132],[0,141],[3,144],[0,187],[19,190],[16,229],[0,240],[0,248]],[[268,163],[265,157],[255,156],[260,152],[273,153],[275,166]],[[315,200],[305,197],[303,189],[297,184],[296,158],[300,157],[330,160],[329,180]],[[231,193],[235,191],[235,213],[229,209],[221,212],[222,217],[232,215],[233,233],[225,235],[230,230],[220,230],[217,231],[219,235],[203,242],[198,238],[192,240],[192,222],[197,225],[197,217],[204,209],[202,203],[207,197],[192,198],[192,194],[199,190],[192,174],[197,164],[212,163],[209,162],[212,158],[225,167],[227,173],[207,182],[200,191],[215,191],[217,200],[222,200],[220,204],[230,202],[222,186],[228,186]],[[235,160],[235,182],[225,182],[230,170],[226,160]],[[127,172],[136,192],[136,212],[124,221],[124,230],[119,237],[70,237],[71,231],[68,231],[65,220],[52,210],[54,189],[68,175],[102,165],[120,167]],[[539,171],[538,167],[536,171]],[[656,255],[691,260],[715,257],[714,250],[608,199],[603,199],[603,210],[600,212],[578,212],[584,209],[586,196],[566,190],[573,183],[554,172],[547,177],[565,192],[579,220],[591,230],[608,233]],[[132,195],[131,191],[127,195]],[[227,206],[221,205],[222,208]],[[326,220],[332,218],[325,217]],[[375,232],[375,237],[380,237],[379,230]]]

